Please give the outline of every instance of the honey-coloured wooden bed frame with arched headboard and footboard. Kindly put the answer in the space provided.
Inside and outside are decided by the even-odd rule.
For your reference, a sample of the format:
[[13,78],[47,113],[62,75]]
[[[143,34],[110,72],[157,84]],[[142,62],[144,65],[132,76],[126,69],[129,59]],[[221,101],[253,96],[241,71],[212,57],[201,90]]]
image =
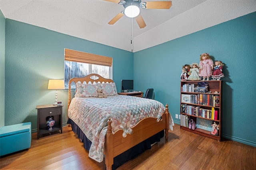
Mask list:
[[[96,79],[92,79],[92,76],[96,76]],[[100,82],[100,83],[111,83],[113,80],[105,79],[98,74],[89,74],[88,76],[82,78],[72,78],[68,83],[68,107],[71,102],[71,82]],[[122,137],[122,130],[118,130],[112,133],[111,119],[108,120],[107,133],[105,136],[105,164],[106,170],[112,169],[112,164],[114,164],[114,157],[123,153],[124,151],[134,147],[138,143],[148,139],[149,137],[155,135],[156,133],[165,130],[165,140],[168,141],[168,131],[169,131],[169,111],[168,104],[166,104],[165,112],[162,113],[162,120],[157,121],[157,118],[146,117],[139,121],[134,127],[132,127],[133,133],[127,134],[126,137]]]

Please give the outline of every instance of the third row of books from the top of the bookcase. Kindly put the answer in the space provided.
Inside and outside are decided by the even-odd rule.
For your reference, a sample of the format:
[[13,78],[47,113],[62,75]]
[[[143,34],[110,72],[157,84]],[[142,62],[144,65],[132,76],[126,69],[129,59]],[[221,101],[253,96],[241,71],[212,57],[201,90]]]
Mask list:
[[198,117],[204,117],[212,120],[219,120],[219,111],[212,107],[212,109],[204,109],[199,106],[190,106],[187,104],[180,105],[181,113],[185,113],[188,115],[194,115]]

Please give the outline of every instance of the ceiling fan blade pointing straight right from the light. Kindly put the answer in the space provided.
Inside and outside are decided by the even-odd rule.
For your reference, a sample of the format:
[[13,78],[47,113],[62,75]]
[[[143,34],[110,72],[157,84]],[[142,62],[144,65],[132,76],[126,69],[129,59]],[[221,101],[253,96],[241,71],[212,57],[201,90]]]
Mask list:
[[141,2],[140,4],[142,6],[141,8],[145,9],[169,9],[172,6],[172,1],[151,1]]

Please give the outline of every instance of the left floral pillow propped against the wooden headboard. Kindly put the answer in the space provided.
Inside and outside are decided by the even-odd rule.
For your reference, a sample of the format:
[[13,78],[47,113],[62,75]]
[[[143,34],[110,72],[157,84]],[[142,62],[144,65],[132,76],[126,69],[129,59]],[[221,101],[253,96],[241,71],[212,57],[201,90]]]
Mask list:
[[98,84],[76,83],[76,94],[78,98],[97,97]]

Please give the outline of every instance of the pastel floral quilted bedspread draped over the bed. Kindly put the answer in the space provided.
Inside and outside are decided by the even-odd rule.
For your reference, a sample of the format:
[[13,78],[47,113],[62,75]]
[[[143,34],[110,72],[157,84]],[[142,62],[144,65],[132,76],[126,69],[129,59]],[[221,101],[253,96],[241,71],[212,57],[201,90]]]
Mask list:
[[[89,157],[102,162],[108,118],[112,120],[112,131],[124,131],[123,136],[132,133],[131,127],[144,117],[161,118],[165,111],[162,103],[145,98],[116,95],[107,98],[73,98],[68,117],[82,129],[92,142]],[[170,127],[173,121],[170,115]]]

